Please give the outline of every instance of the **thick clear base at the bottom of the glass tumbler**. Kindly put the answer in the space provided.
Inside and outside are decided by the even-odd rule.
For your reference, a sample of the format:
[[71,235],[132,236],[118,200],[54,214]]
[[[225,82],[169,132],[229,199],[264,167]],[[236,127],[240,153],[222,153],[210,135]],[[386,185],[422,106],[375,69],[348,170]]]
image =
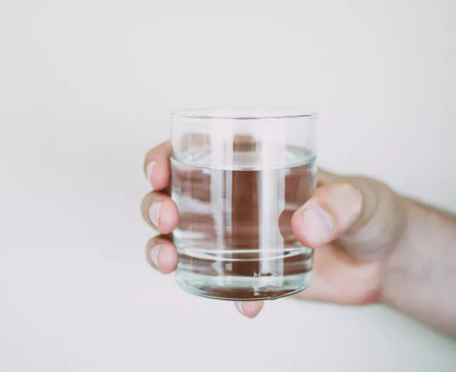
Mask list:
[[217,300],[276,300],[304,291],[311,282],[311,271],[279,277],[216,277],[177,269],[180,288],[194,295]]

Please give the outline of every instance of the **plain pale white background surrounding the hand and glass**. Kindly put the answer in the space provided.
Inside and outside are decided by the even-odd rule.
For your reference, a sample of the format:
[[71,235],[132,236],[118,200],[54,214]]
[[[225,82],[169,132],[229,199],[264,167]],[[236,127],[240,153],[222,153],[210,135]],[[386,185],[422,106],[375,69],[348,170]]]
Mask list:
[[139,212],[170,109],[239,104],[315,109],[321,165],[456,211],[455,1],[0,0],[0,46],[0,371],[456,370],[380,307],[187,295]]

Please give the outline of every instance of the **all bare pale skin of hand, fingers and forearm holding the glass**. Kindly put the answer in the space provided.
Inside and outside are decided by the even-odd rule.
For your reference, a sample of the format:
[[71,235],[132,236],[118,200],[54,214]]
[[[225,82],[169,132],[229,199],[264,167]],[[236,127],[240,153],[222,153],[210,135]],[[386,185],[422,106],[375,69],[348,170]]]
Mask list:
[[[170,143],[150,150],[145,174],[153,192],[142,216],[161,235],[147,258],[163,274],[177,267],[170,234],[179,215],[169,196]],[[314,195],[291,220],[293,233],[315,248],[312,283],[301,300],[382,303],[456,338],[456,217],[396,194],[366,177],[318,171]],[[263,302],[236,303],[248,318]]]

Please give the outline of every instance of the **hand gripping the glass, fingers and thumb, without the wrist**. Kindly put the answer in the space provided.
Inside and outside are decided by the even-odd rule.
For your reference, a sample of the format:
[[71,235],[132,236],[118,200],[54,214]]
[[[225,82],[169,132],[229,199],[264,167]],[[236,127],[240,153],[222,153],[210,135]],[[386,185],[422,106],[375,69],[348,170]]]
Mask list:
[[[177,267],[177,250],[170,233],[177,226],[177,206],[170,199],[169,142],[150,150],[145,173],[153,192],[142,200],[143,218],[159,230],[147,244],[147,259],[163,274]],[[366,177],[340,177],[318,171],[314,195],[293,215],[293,233],[304,246],[315,248],[311,286],[295,295],[346,305],[379,300],[382,270],[401,238],[405,207],[382,182]],[[261,301],[236,303],[246,317],[255,317]]]

